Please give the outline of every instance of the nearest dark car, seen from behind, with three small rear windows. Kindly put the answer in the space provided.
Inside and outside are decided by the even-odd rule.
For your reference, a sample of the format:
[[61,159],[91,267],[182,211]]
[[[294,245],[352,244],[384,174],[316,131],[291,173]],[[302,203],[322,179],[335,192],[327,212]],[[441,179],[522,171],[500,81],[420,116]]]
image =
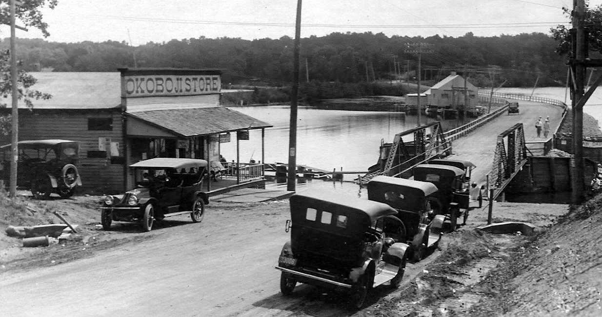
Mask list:
[[291,238],[276,267],[282,294],[306,283],[344,290],[353,307],[361,308],[371,288],[399,286],[409,246],[388,236],[390,222],[399,223],[389,205],[311,193],[291,196],[290,209],[285,231]]

